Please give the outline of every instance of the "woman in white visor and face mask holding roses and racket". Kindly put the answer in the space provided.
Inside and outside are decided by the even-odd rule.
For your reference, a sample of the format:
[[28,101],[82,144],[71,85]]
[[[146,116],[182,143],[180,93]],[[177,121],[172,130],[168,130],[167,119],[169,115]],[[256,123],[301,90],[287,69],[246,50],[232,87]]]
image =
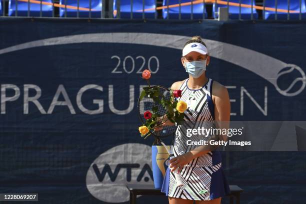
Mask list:
[[[175,131],[172,146],[175,157],[169,161],[161,188],[170,204],[191,204],[193,200],[195,203],[215,204],[220,203],[221,197],[229,193],[220,152],[211,150],[213,146],[209,145],[198,145],[188,150],[182,142],[189,138],[185,131],[190,127],[188,122],[193,121],[197,125],[201,121],[229,121],[228,92],[225,86],[205,75],[209,61],[205,43],[200,36],[192,37],[185,43],[181,57],[189,77],[171,85],[173,90],[182,90],[177,99],[185,101],[188,108],[184,111],[185,126],[178,125]],[[226,124],[220,122],[218,127],[228,128]],[[174,124],[167,120],[162,125]],[[185,181],[183,186],[176,185],[173,171],[177,169]]]

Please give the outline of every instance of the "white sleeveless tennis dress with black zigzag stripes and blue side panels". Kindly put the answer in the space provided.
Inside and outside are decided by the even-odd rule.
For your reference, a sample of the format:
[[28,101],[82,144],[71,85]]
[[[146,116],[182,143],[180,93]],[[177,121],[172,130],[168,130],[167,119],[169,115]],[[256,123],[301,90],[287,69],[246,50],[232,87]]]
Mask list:
[[[214,121],[214,104],[212,102],[212,79],[208,78],[206,84],[200,89],[190,89],[185,79],[180,86],[181,97],[187,103],[184,111],[184,124],[178,125],[175,131],[172,152],[174,156],[184,154],[194,146],[185,142],[186,128],[197,128],[201,121],[208,123]],[[211,200],[225,196],[229,193],[229,186],[224,175],[221,154],[219,151],[209,151],[192,159],[186,164],[180,174],[183,178],[183,186],[177,186],[173,172],[169,167],[166,170],[161,191],[169,197],[192,200]]]

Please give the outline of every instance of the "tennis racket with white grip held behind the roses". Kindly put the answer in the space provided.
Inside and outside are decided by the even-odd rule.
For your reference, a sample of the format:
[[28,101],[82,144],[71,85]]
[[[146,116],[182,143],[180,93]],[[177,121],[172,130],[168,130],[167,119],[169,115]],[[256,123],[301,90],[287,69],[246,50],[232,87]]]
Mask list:
[[[165,99],[170,99],[171,93],[170,90],[163,86],[150,86],[150,88],[156,88],[159,91],[159,99],[161,99],[162,95]],[[174,98],[175,99],[175,98]],[[170,159],[174,157],[174,154],[171,149],[168,149],[167,146],[161,141],[160,138],[164,138],[170,135],[173,135],[176,130],[176,125],[166,125],[161,126],[163,122],[167,120],[165,114],[167,112],[166,107],[163,107],[162,104],[154,102],[154,100],[150,97],[150,95],[145,95],[143,97],[138,98],[138,116],[142,124],[146,122],[146,119],[144,118],[144,112],[145,111],[151,111],[154,109],[154,112],[157,112],[158,119],[156,121],[155,127],[159,127],[158,131],[155,131],[153,128],[152,130],[149,130],[149,133],[151,133],[157,141],[160,141],[160,143],[166,148],[167,152],[169,153]],[[177,186],[182,186],[183,184],[183,178],[181,177],[180,173],[177,172],[177,169],[173,172],[176,180]]]

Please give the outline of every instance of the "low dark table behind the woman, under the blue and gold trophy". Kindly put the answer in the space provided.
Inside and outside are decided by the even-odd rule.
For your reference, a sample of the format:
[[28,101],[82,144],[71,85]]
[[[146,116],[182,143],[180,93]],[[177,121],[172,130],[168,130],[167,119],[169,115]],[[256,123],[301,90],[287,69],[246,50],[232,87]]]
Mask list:
[[[165,195],[163,192],[160,192],[160,189],[154,188],[154,185],[148,184],[126,184],[127,189],[129,190],[129,203],[136,204],[137,195]],[[237,185],[229,185],[230,194],[230,204],[233,204],[233,198],[236,198],[236,204],[240,203],[240,193],[243,191]]]

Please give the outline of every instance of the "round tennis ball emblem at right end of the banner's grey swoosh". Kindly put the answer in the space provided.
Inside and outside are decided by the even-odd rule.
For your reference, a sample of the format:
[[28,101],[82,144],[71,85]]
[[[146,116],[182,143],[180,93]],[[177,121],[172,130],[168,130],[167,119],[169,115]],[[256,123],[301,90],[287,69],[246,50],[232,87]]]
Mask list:
[[[294,78],[294,80],[290,78]],[[287,64],[277,73],[275,88],[282,95],[294,96],[304,89],[305,84],[306,76],[304,71],[295,64]]]

